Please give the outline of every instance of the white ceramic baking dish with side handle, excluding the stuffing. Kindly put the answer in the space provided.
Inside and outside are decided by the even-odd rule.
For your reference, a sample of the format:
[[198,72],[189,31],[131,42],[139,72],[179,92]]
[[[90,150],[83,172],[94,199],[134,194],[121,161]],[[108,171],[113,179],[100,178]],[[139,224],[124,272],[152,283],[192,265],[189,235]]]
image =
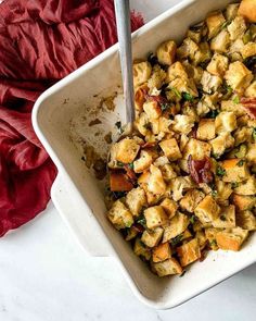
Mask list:
[[[229,2],[181,1],[133,34],[133,55],[144,57],[169,38],[180,41],[191,24]],[[86,169],[69,135],[71,121],[85,106],[95,103],[93,96],[112,92],[119,84],[116,45],[43,92],[35,104],[33,124],[59,169],[52,186],[53,202],[81,246],[92,256],[115,257],[133,293],[151,307],[167,309],[256,262],[256,234],[240,252],[210,252],[203,262],[193,264],[183,277],[158,279],[135,256],[119,232],[106,220],[102,188]],[[89,131],[87,134],[90,135]]]

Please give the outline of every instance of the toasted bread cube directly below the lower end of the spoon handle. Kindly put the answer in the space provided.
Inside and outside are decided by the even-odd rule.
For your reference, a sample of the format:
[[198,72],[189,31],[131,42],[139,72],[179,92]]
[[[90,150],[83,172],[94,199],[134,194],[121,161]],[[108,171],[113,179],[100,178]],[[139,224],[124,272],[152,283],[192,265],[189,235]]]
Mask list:
[[133,162],[140,150],[140,146],[131,138],[121,139],[117,146],[116,160],[125,164]]

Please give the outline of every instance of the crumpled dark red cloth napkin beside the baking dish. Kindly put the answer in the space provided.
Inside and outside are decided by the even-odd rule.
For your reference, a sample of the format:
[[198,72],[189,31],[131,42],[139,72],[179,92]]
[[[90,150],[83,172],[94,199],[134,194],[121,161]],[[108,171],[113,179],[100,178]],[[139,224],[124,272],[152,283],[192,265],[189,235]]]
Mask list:
[[[132,30],[142,24],[132,13]],[[34,102],[116,40],[112,0],[0,4],[0,236],[46,208],[56,175],[31,127]]]

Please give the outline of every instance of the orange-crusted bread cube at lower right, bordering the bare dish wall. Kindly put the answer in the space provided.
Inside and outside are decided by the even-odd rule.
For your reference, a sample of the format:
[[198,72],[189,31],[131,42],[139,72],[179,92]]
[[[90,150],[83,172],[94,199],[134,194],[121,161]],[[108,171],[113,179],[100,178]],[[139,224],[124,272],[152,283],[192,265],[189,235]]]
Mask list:
[[247,236],[248,231],[234,227],[218,232],[216,234],[216,240],[220,249],[238,251]]

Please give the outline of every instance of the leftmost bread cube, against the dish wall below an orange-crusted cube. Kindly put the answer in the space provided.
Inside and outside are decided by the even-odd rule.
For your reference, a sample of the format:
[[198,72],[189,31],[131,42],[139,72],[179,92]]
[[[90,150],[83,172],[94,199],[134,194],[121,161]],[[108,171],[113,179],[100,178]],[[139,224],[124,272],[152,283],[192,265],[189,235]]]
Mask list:
[[131,212],[119,199],[113,203],[106,214],[117,230],[130,227],[133,224]]

